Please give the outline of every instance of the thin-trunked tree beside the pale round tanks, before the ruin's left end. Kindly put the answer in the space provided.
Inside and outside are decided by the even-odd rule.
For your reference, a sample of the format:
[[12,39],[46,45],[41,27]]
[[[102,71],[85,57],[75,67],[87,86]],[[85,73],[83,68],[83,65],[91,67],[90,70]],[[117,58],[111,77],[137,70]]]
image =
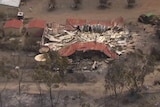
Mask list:
[[50,106],[55,107],[56,104],[53,102],[53,86],[54,88],[58,88],[59,83],[64,82],[64,71],[68,66],[68,60],[65,57],[61,57],[55,51],[44,54],[46,61],[37,64],[33,78],[37,83],[43,82],[47,86]]

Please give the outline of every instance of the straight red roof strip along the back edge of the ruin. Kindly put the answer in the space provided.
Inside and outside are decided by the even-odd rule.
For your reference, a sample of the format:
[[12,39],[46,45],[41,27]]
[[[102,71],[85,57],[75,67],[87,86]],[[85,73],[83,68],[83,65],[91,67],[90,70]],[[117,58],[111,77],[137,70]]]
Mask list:
[[[67,19],[66,30],[73,31],[80,27],[82,31],[99,32],[98,29],[105,31],[105,29],[112,27],[122,27],[124,25],[123,17],[118,17],[112,20],[85,20],[85,19]],[[87,28],[88,27],[88,28]]]

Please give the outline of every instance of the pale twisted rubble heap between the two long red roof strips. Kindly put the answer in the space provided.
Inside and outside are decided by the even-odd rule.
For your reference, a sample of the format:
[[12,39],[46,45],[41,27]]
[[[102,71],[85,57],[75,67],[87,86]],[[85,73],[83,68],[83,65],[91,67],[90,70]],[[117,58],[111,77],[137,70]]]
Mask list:
[[74,31],[67,31],[64,28],[59,29],[60,27],[47,26],[42,36],[42,46],[48,46],[51,50],[56,51],[76,42],[85,43],[94,41],[108,45],[110,49],[119,55],[125,52],[127,43],[132,37],[132,33],[127,28],[124,26],[114,26],[112,28],[100,25],[95,26],[96,29],[103,32],[95,32],[95,30],[92,30],[93,27],[90,30],[86,30],[85,27],[83,27],[85,30],[76,27]]

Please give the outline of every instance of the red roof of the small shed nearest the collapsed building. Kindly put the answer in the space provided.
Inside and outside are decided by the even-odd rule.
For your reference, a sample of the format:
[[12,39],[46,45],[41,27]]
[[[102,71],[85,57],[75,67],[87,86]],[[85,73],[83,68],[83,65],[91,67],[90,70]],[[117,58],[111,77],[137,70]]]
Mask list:
[[45,28],[46,21],[44,20],[32,20],[28,23],[28,28]]

